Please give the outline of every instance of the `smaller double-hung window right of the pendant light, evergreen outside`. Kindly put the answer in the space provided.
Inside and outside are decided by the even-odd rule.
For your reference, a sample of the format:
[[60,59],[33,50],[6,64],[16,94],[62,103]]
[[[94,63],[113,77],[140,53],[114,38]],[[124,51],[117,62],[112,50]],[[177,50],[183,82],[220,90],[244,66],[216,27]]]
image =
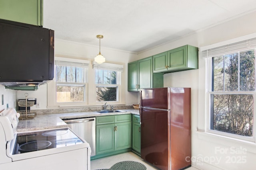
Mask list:
[[96,102],[118,103],[121,92],[123,65],[113,63],[93,64]]

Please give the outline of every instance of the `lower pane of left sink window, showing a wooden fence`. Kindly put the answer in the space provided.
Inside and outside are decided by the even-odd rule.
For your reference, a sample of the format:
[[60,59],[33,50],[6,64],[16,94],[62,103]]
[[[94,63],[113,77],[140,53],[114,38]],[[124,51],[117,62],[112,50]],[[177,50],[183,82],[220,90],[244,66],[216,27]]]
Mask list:
[[58,86],[57,102],[84,102],[84,86]]

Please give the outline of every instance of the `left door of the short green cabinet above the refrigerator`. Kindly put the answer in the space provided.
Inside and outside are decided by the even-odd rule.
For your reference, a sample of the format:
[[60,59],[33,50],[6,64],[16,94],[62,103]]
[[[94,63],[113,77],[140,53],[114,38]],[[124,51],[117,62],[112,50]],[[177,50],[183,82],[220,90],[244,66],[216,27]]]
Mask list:
[[153,72],[163,72],[168,66],[168,52],[153,55]]

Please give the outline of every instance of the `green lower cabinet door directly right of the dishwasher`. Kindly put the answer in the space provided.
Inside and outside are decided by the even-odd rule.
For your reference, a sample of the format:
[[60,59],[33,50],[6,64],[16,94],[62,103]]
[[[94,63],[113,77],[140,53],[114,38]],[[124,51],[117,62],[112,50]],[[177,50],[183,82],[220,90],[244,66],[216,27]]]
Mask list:
[[96,126],[96,155],[115,150],[115,124]]

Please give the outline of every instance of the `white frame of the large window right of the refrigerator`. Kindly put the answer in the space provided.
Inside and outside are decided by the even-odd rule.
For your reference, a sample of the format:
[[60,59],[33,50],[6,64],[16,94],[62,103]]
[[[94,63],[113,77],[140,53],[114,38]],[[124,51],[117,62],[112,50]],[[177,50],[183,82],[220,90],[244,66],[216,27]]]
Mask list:
[[[217,130],[212,130],[210,129],[210,117],[211,117],[211,104],[210,104],[210,98],[211,94],[236,94],[236,92],[212,92],[211,84],[212,84],[212,57],[205,57],[205,55],[202,53],[205,50],[216,48],[216,47],[221,47],[224,45],[229,45],[232,43],[238,43],[240,41],[245,41],[248,39],[255,38],[256,34],[252,35],[246,35],[244,37],[238,37],[236,39],[216,43],[213,45],[201,47],[199,53],[199,72],[198,72],[198,108],[202,108],[202,110],[198,110],[198,131],[201,132],[206,132],[210,133],[212,135],[220,135],[222,137],[227,137],[231,139],[236,139],[236,140],[242,140],[242,141],[248,141],[248,142],[256,142],[256,90],[250,91],[250,92],[242,92],[239,91],[239,94],[252,94],[253,95],[253,102],[254,102],[254,115],[253,115],[253,135],[252,137],[246,137],[242,135],[236,135],[232,133],[227,133],[227,132],[222,132],[222,131],[217,131]],[[247,49],[255,49],[256,46],[253,45],[248,47]],[[244,51],[246,49],[241,49],[237,51]],[[232,51],[234,52],[234,51]],[[223,54],[222,54],[223,55]],[[254,54],[256,55],[256,53]],[[216,55],[216,56],[219,56]],[[255,57],[256,58],[256,57]],[[255,59],[256,61],[256,59]],[[256,68],[256,64],[254,65]],[[256,69],[255,69],[256,70]],[[256,71],[255,71],[256,72]],[[256,74],[256,73],[255,73]],[[203,105],[202,105],[203,104]]]

